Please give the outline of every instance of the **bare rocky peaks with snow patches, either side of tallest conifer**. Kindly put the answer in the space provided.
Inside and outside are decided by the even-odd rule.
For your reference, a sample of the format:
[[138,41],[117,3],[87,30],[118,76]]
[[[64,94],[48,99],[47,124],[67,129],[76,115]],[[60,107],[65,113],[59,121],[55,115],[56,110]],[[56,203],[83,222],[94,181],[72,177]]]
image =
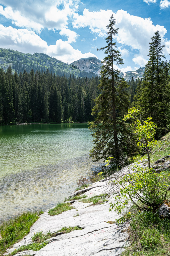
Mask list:
[[[81,58],[80,60],[76,60],[72,62],[70,65],[77,66],[79,69],[84,70],[86,72],[94,72],[98,76],[100,76],[101,71],[101,60],[97,59],[96,57],[90,57],[90,58]],[[131,80],[132,77],[134,79],[137,79],[138,77],[141,78],[143,75],[143,72],[145,71],[145,67],[139,68],[135,71],[127,71],[127,72],[121,72],[121,76],[124,77],[125,80]]]

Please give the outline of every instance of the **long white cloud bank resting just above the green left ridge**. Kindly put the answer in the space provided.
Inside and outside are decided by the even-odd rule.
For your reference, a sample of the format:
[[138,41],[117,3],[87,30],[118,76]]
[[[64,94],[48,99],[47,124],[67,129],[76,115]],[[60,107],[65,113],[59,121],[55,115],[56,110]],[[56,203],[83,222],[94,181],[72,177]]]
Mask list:
[[48,46],[47,42],[36,35],[34,31],[3,25],[0,25],[0,47],[11,48],[24,53],[45,53],[64,62],[68,61],[68,63],[80,58],[96,57],[91,52],[82,54],[81,51],[74,49],[68,41],[59,39],[55,45]]

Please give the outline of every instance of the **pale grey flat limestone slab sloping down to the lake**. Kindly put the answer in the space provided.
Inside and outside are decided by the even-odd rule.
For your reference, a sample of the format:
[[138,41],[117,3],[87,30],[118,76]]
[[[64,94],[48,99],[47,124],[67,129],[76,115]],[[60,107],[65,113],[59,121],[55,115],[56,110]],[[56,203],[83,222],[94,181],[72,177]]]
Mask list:
[[[125,167],[116,173],[119,177],[127,172],[133,171],[133,164]],[[74,230],[67,234],[48,239],[48,244],[40,251],[29,251],[28,254],[35,256],[118,256],[128,246],[129,223],[118,226],[116,219],[120,216],[114,211],[109,211],[110,203],[114,202],[114,196],[119,194],[119,189],[111,183],[111,178],[106,178],[91,184],[89,187],[75,191],[71,196],[87,195],[87,198],[95,195],[107,194],[102,204],[93,205],[93,202],[84,203],[80,200],[71,200],[73,209],[62,212],[62,214],[50,216],[48,211],[40,215],[40,218],[31,227],[30,233],[20,242],[8,249],[8,253],[14,251],[22,245],[32,243],[32,236],[38,231],[44,234],[50,231],[57,232],[62,227],[79,226],[81,230]],[[80,193],[78,193],[80,194]],[[77,213],[79,214],[78,216]],[[109,224],[108,222],[112,223]],[[23,255],[16,254],[15,256]]]

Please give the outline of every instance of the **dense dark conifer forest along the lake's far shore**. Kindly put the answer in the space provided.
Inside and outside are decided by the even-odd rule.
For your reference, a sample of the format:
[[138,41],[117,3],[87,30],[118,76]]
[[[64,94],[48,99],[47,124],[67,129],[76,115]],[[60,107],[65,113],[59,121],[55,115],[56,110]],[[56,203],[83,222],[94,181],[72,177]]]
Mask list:
[[0,123],[84,122],[99,92],[99,78],[69,78],[55,73],[24,70],[19,76],[11,67],[0,70]]

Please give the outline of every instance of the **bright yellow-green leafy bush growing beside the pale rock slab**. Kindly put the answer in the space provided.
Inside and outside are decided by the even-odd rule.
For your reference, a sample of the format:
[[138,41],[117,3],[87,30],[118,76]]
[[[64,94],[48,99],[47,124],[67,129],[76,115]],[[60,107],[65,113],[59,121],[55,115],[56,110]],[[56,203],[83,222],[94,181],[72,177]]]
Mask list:
[[169,178],[165,172],[155,173],[135,164],[124,176],[113,176],[112,182],[120,188],[120,195],[114,197],[114,203],[110,203],[110,211],[114,209],[118,214],[128,207],[129,199],[139,211],[142,210],[141,204],[144,208],[156,210],[168,193]]

